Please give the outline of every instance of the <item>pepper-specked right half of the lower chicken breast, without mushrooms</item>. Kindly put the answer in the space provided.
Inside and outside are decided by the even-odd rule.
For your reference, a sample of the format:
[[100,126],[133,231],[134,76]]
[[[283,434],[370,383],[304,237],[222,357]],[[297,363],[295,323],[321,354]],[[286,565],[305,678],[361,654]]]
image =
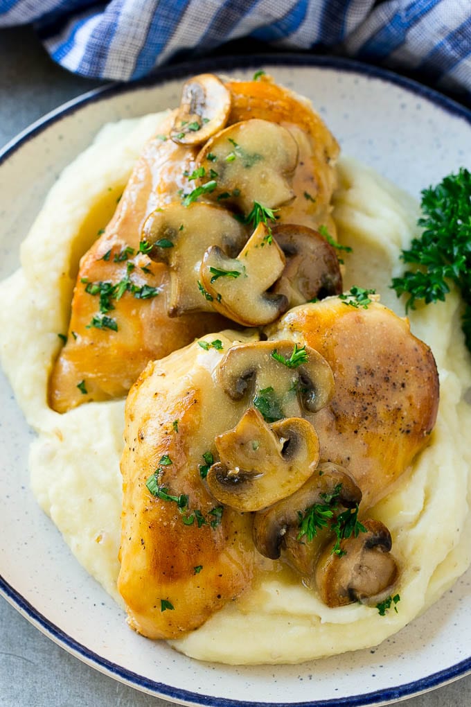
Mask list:
[[297,307],[269,333],[304,341],[330,363],[335,393],[308,419],[321,461],[344,467],[362,489],[362,509],[370,508],[429,443],[439,404],[429,346],[383,305],[355,308],[339,298]]

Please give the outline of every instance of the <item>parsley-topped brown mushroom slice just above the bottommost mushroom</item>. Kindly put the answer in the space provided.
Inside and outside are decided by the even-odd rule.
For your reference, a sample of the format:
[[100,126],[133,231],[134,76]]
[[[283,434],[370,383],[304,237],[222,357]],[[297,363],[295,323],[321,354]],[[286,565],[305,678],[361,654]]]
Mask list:
[[[299,538],[300,519],[317,503],[333,508],[354,508],[362,500],[362,491],[345,469],[328,462],[319,464],[314,474],[289,498],[283,498],[254,518],[254,543],[262,555],[278,559],[282,548],[288,549],[291,564],[309,577],[319,551],[318,542]],[[322,539],[319,534],[316,540]],[[288,541],[288,542],[287,542]],[[314,550],[314,552],[313,552]]]

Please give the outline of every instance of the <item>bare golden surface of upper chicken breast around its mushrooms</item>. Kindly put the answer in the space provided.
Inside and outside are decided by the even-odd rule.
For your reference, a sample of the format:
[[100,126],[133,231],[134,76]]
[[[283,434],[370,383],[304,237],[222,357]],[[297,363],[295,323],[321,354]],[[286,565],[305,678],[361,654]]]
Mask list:
[[[330,195],[335,186],[338,145],[321,119],[307,103],[269,81],[231,81],[227,86],[232,95],[228,124],[251,117],[270,119],[288,127],[298,142],[299,163],[293,176],[297,196],[281,207],[280,221],[313,228],[323,223],[335,234]],[[174,114],[169,115],[160,127],[161,134],[169,134],[173,119]],[[166,356],[205,332],[227,326],[222,317],[207,312],[169,317],[167,266],[141,255],[119,259],[126,248],[138,252],[142,226],[150,213],[179,200],[180,190],[191,192],[194,182],[189,182],[184,173],[192,173],[200,147],[176,144],[170,139],[150,141],[105,233],[81,259],[67,343],[49,381],[49,404],[56,411],[125,395],[149,360]],[[126,291],[119,300],[112,300],[114,309],[108,312],[117,330],[93,326],[99,296],[91,296],[87,284],[123,281],[128,275],[128,262],[134,265],[129,273],[131,283],[158,288],[159,293],[141,299]]]

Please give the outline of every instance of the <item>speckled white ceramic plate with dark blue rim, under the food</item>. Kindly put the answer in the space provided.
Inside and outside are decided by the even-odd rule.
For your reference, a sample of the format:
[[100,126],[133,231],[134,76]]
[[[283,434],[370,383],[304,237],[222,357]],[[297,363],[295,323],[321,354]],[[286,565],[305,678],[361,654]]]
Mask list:
[[[93,91],[18,136],[0,155],[0,276],[18,266],[18,244],[49,187],[102,124],[177,105],[181,80],[190,73],[249,77],[260,63],[217,59],[165,69],[151,81]],[[469,158],[470,113],[415,83],[333,59],[266,57],[263,68],[313,100],[345,153],[417,197]],[[97,670],[171,701],[219,707],[331,707],[345,705],[346,698],[349,705],[378,705],[471,671],[469,571],[424,616],[375,650],[303,665],[208,665],[137,636],[32,498],[26,468],[32,433],[4,378],[0,395],[0,591]]]

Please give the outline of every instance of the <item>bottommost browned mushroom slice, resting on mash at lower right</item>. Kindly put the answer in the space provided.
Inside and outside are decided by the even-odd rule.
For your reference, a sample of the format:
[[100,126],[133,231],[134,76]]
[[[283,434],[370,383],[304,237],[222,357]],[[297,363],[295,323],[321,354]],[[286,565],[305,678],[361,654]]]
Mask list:
[[316,585],[329,607],[381,597],[398,578],[388,528],[378,520],[362,520],[362,524],[366,532],[340,542],[345,554],[333,553],[330,542],[319,556]]

